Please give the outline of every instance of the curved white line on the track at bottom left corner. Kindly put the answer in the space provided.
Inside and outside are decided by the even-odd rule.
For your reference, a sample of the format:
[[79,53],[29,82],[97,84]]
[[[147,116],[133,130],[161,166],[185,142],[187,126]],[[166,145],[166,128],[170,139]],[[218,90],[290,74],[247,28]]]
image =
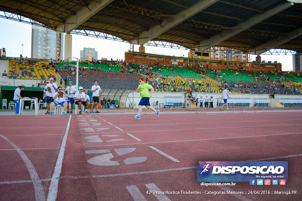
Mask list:
[[11,146],[16,149],[16,151],[20,155],[21,159],[24,161],[26,168],[31,176],[31,181],[33,182],[33,185],[34,185],[36,200],[45,200],[45,194],[44,194],[42,182],[39,178],[39,175],[38,175],[34,165],[28,159],[27,155],[15,143],[13,143],[7,137],[5,137],[1,134],[0,134],[0,137],[2,137],[4,140],[6,140],[8,143],[10,143]]

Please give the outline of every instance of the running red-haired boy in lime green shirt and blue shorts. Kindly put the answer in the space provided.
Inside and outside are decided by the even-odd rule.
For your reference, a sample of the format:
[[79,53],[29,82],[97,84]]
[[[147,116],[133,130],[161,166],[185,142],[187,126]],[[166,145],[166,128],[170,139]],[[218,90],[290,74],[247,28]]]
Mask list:
[[[150,98],[153,96],[154,89],[151,85],[145,83],[146,78],[145,77],[140,77],[139,83],[140,85],[137,87],[137,93],[140,93],[140,103],[138,104],[138,114],[134,115],[133,117],[136,119],[140,119],[140,113],[142,112],[142,106],[145,105],[149,110],[155,112],[156,116],[159,117],[159,110],[155,110],[151,105],[150,105]],[[149,95],[148,89],[151,89],[151,94]]]

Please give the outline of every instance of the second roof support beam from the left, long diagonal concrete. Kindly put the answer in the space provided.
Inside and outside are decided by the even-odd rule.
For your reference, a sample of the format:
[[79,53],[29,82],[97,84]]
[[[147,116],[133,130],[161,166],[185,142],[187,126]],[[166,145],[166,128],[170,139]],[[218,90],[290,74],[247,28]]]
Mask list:
[[[172,27],[175,27],[177,24],[182,23],[184,20],[187,20],[188,18],[194,16],[198,12],[206,9],[207,7],[213,5],[214,3],[218,2],[219,0],[204,0],[200,1],[197,4],[193,5],[191,8],[188,8],[184,11],[181,11],[174,17],[173,22],[164,21],[161,24],[153,27],[149,31],[146,31],[138,36],[137,43],[139,45],[143,45],[146,42],[156,38],[157,36],[161,35],[162,33],[165,33]],[[146,38],[147,37],[147,38]]]

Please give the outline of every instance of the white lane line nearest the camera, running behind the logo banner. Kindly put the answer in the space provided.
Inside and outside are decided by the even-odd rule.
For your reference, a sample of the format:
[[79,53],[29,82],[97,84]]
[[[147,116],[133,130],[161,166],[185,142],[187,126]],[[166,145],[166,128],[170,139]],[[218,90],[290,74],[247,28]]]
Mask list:
[[[284,159],[284,158],[292,158],[292,157],[299,157],[302,154],[295,154],[295,155],[286,155],[286,156],[278,156],[273,158],[266,158],[266,159],[254,159],[248,161],[265,161],[265,160],[274,160],[274,159]],[[169,171],[179,171],[179,170],[189,170],[194,169],[196,166],[191,167],[183,167],[183,168],[172,168],[172,169],[162,169],[162,170],[150,170],[150,171],[143,171],[143,172],[128,172],[128,173],[119,173],[119,174],[101,174],[101,175],[92,175],[92,176],[61,176],[62,178],[70,178],[70,179],[83,179],[83,178],[100,178],[100,177],[120,177],[120,176],[129,176],[129,175],[136,175],[136,174],[149,174],[149,173],[158,173],[158,172],[169,172]],[[41,179],[41,181],[50,181],[51,179]],[[0,184],[16,184],[16,183],[29,183],[32,180],[23,180],[23,181],[0,181]]]

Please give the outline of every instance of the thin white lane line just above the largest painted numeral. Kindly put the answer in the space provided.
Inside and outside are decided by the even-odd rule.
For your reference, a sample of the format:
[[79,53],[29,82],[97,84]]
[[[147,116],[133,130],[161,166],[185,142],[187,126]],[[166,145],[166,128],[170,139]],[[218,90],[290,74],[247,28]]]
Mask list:
[[239,137],[221,137],[221,138],[210,138],[210,139],[197,139],[197,140],[175,140],[175,141],[162,141],[162,142],[142,142],[142,143],[127,143],[127,144],[111,144],[111,145],[91,145],[92,146],[117,146],[117,145],[133,145],[133,144],[152,144],[152,143],[171,143],[171,142],[191,142],[191,141],[205,141],[205,140],[225,140],[225,139],[235,139],[235,138],[247,138],[247,137],[267,137],[276,135],[290,135],[290,134],[302,134],[302,133],[280,133],[280,134],[270,134],[270,135],[254,135],[254,136],[239,136]]

